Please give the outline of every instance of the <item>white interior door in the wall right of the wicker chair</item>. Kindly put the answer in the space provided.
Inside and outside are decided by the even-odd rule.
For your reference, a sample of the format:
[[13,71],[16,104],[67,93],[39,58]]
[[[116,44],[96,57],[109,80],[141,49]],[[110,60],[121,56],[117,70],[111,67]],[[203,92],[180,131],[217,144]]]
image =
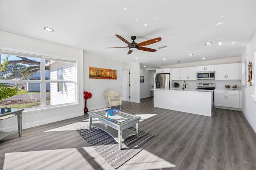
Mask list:
[[122,70],[122,101],[130,102],[130,70]]

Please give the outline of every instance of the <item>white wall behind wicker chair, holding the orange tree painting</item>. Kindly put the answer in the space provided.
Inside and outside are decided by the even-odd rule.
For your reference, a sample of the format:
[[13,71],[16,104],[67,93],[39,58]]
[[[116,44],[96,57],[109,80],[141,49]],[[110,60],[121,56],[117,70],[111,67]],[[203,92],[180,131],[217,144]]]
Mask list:
[[[117,79],[90,79],[89,67],[114,69],[117,71]],[[140,64],[126,63],[102,56],[84,53],[84,91],[92,93],[92,98],[87,100],[89,111],[107,107],[108,100],[104,97],[107,89],[115,89],[121,94],[121,70],[131,70],[131,102],[140,103]]]

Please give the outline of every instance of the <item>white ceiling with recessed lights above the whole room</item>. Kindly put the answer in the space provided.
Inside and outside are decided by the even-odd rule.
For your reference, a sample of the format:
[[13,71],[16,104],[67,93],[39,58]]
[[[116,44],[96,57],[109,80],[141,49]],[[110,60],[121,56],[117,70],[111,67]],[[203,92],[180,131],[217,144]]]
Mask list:
[[[204,57],[240,57],[256,32],[256,0],[1,0],[0,10],[1,31],[140,62],[146,68]],[[129,42],[136,36],[137,43],[161,37],[160,42],[145,47],[167,47],[130,55],[128,48],[105,49],[127,46],[115,34]]]

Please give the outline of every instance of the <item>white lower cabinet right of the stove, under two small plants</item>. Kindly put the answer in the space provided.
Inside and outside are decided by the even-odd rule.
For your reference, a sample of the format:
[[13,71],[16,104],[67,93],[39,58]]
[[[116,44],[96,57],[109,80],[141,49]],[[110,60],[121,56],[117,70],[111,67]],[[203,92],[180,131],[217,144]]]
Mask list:
[[240,108],[239,101],[239,91],[214,90],[214,106]]

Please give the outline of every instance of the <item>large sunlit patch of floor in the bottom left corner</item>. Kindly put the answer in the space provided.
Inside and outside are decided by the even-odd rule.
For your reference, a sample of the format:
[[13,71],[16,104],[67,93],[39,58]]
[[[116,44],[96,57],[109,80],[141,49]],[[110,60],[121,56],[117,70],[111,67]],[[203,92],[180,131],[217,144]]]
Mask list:
[[[14,161],[19,163],[19,167]],[[70,164],[70,162],[75,162]],[[11,152],[4,155],[3,169],[77,169],[86,167],[93,169],[90,163],[76,148],[39,150],[30,152]]]

